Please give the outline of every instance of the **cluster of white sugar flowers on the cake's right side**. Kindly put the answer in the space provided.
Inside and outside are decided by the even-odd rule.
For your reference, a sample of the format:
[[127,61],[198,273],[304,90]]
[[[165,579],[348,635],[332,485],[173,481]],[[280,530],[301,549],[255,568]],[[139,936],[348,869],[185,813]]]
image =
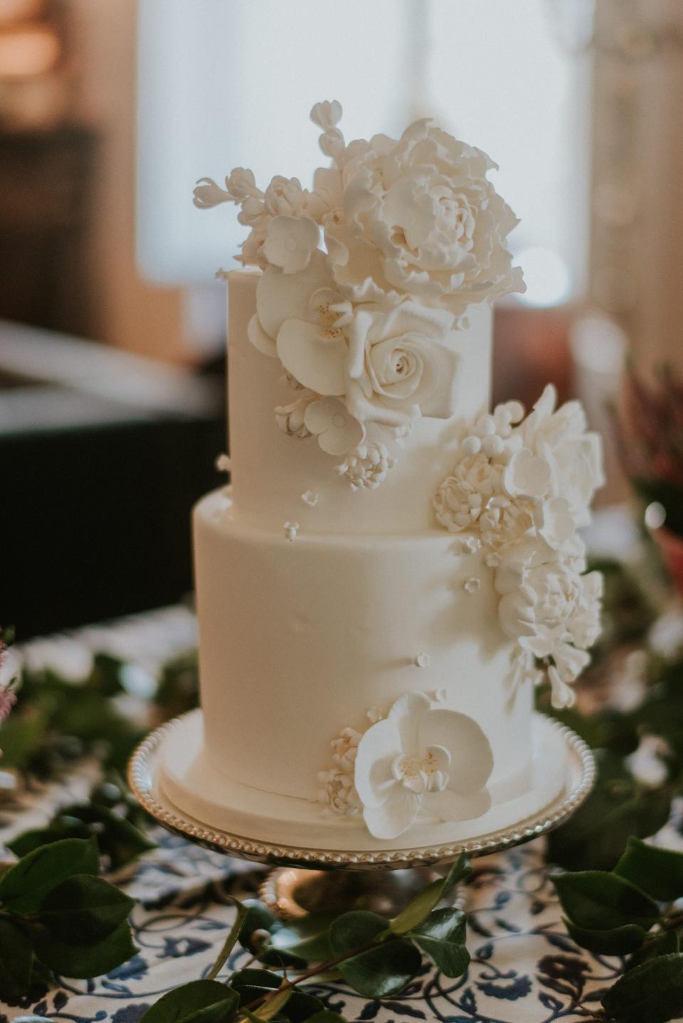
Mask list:
[[503,631],[517,643],[515,664],[537,678],[540,663],[562,707],[574,702],[570,685],[600,631],[602,577],[586,573],[578,530],[590,521],[603,475],[600,439],[581,405],[555,403],[548,386],[526,418],[518,402],[507,402],[466,425],[434,506],[449,532],[468,535],[469,552],[484,548]]

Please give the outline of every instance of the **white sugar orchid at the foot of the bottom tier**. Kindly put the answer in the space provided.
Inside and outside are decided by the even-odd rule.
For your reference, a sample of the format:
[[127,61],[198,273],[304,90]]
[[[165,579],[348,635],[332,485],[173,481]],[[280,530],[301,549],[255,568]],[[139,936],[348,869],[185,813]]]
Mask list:
[[471,717],[408,693],[362,737],[354,781],[370,834],[394,839],[420,811],[438,820],[482,816],[492,770],[491,746]]

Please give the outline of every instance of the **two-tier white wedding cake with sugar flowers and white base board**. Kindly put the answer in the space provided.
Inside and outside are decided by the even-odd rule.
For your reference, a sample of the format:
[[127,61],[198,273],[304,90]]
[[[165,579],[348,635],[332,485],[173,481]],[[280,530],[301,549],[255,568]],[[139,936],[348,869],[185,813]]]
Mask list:
[[[581,406],[489,411],[491,305],[523,291],[482,150],[419,121],[313,188],[241,168],[195,204],[251,228],[229,290],[231,486],[194,514],[201,711],[161,786],[267,843],[406,849],[538,812],[555,706],[599,631],[577,530],[601,482]],[[249,269],[251,268],[251,269]]]

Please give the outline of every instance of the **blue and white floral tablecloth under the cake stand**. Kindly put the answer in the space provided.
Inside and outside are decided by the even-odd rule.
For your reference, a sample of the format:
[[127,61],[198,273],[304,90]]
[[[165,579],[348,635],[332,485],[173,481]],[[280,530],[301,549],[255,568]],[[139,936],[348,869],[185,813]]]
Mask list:
[[[70,786],[72,793],[74,785],[79,787],[78,780]],[[57,788],[64,797],[65,787]],[[34,805],[30,815],[36,812]],[[0,822],[7,822],[4,816]],[[97,980],[61,979],[54,990],[37,992],[17,1006],[0,999],[0,1023],[29,1012],[70,1023],[137,1023],[164,991],[209,970],[234,916],[226,893],[253,894],[261,870],[161,829],[154,838],[160,849],[123,885],[138,900],[132,918],[138,954]],[[381,1004],[340,985],[316,985],[315,993],[349,1020],[381,1023],[593,1019],[597,992],[612,980],[620,963],[595,959],[566,936],[545,877],[542,842],[474,861],[466,903],[472,962],[464,977],[449,980],[425,964],[402,995]],[[226,972],[245,959],[237,951]]]

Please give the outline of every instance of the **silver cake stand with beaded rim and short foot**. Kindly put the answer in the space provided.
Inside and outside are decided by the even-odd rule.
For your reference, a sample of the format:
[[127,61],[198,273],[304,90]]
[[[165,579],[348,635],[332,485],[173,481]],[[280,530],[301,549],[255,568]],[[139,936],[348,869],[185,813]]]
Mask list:
[[567,763],[564,791],[539,813],[512,828],[452,845],[391,851],[337,852],[274,845],[259,841],[258,836],[235,835],[209,827],[180,811],[165,797],[156,784],[160,750],[178,720],[152,731],[131,757],[128,780],[133,794],[168,831],[215,852],[279,868],[268,875],[262,897],[283,917],[351,907],[395,916],[417,890],[438,876],[435,866],[452,862],[461,852],[470,857],[485,856],[545,835],[581,806],[595,782],[595,761],[589,747],[571,728],[554,723]]

